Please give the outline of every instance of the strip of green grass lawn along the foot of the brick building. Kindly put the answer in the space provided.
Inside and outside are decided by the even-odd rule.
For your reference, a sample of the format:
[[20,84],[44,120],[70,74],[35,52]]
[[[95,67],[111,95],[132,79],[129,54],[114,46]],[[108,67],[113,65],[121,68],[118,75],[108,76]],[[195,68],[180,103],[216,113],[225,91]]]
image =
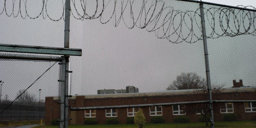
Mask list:
[[[210,125],[210,124],[209,124]],[[143,128],[209,128],[205,123],[145,124]],[[216,128],[256,128],[256,121],[215,122]],[[36,126],[34,128],[59,128],[59,126]],[[138,128],[135,124],[70,125],[68,128]]]

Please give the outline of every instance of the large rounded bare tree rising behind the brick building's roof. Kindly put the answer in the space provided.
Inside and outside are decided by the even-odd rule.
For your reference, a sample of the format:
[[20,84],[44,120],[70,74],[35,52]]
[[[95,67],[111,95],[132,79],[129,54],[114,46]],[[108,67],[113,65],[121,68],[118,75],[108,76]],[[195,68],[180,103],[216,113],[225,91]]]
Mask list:
[[181,89],[198,89],[205,88],[205,79],[202,79],[196,73],[181,73],[176,77],[167,90],[181,90]]

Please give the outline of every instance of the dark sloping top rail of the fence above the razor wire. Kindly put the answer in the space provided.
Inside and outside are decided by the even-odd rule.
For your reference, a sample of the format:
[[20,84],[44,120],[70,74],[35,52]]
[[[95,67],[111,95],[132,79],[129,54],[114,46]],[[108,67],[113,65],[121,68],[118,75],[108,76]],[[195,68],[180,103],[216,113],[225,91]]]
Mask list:
[[216,4],[216,3],[211,3],[211,2],[203,2],[203,1],[198,1],[198,0],[178,0],[178,1],[185,1],[185,2],[194,2],[194,3],[203,3],[203,4],[210,4],[210,5],[215,5],[215,6],[221,6],[221,7],[227,7],[227,8],[233,8],[233,9],[240,9],[240,10],[246,10],[246,11],[254,11],[254,9],[247,9],[247,8],[242,8],[242,7],[235,7],[235,6],[230,6],[230,5],[225,5],[225,4]]

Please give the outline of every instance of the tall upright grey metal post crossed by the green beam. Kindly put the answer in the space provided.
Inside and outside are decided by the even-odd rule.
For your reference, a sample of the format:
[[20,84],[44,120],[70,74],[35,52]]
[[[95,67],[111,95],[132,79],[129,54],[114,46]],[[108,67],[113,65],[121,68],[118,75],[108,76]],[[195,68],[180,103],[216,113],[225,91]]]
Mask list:
[[[65,30],[64,30],[64,47],[69,48],[69,26],[70,26],[70,0],[65,1]],[[69,56],[66,55],[65,65],[65,109],[64,109],[64,128],[68,128],[68,73],[69,73]]]

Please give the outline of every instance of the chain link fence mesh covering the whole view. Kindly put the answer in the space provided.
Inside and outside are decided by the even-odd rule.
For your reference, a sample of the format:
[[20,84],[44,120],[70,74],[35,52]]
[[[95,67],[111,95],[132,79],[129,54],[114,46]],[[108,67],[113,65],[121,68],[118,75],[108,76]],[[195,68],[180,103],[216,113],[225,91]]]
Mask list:
[[[207,88],[200,3],[184,1],[71,1],[70,47],[83,56],[70,57],[69,127],[137,127],[139,110],[145,128],[210,127],[211,104],[215,127],[255,127],[255,8],[203,3]],[[1,5],[0,43],[63,47],[64,1]],[[59,124],[58,62],[0,67],[1,127]]]

